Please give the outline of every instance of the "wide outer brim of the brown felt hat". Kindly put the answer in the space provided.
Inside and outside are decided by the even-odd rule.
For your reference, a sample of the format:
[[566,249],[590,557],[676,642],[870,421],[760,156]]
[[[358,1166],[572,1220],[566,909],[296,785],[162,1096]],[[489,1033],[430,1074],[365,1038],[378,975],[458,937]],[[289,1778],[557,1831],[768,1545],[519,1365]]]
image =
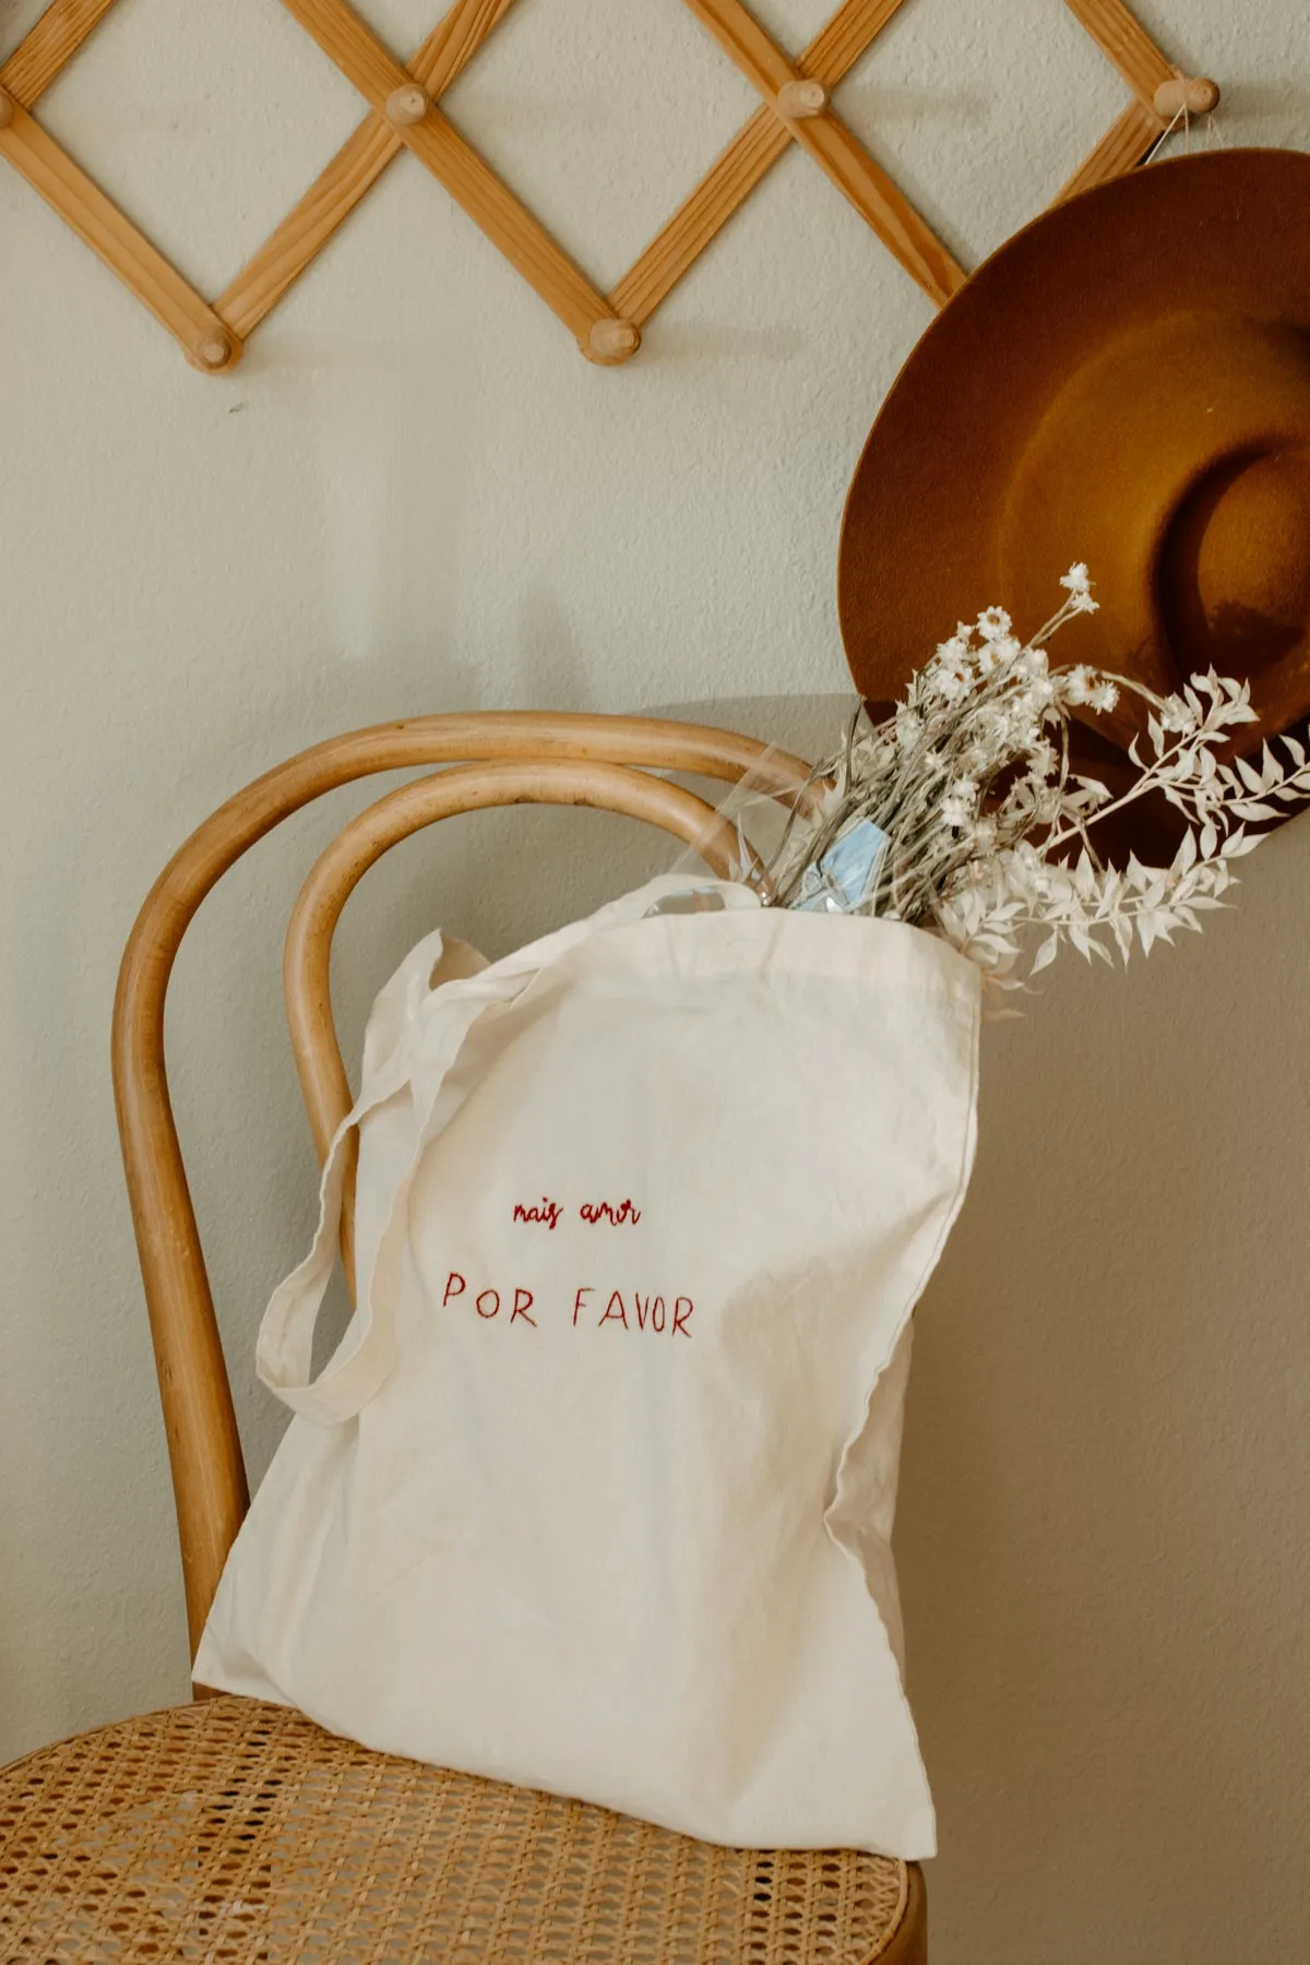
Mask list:
[[1006,499],[1068,377],[1163,314],[1231,309],[1310,330],[1308,226],[1310,155],[1214,151],[1070,198],[972,275],[894,383],[846,497],[837,603],[870,703],[901,696],[956,621],[1011,605]]

